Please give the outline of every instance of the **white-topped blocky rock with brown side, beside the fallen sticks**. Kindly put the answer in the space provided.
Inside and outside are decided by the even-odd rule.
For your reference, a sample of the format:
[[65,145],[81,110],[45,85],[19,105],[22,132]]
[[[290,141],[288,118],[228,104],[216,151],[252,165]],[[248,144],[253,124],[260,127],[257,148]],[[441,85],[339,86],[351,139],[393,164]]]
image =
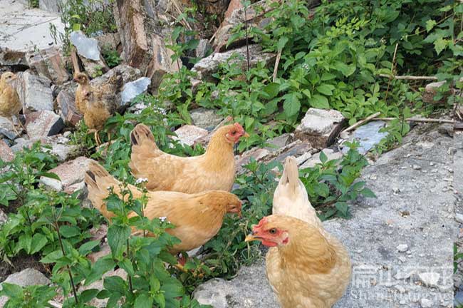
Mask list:
[[294,136],[306,140],[313,148],[328,148],[343,128],[344,117],[339,111],[309,108],[294,131]]

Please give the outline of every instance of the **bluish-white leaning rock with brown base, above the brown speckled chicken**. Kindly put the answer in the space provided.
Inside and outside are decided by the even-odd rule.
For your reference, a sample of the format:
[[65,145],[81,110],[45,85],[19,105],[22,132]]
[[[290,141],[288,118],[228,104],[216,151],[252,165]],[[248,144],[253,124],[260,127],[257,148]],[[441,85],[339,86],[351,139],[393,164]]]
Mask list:
[[100,54],[100,46],[96,39],[89,39],[82,31],[73,31],[69,35],[69,41],[76,46],[77,54],[83,63],[88,75],[96,77],[109,70]]

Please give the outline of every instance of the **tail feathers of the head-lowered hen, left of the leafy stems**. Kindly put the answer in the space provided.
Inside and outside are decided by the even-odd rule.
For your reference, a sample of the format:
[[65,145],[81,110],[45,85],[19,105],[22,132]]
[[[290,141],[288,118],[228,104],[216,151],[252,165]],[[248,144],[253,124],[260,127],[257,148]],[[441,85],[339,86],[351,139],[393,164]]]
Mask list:
[[113,213],[106,210],[104,200],[109,195],[108,188],[113,187],[118,190],[118,180],[113,178],[102,165],[91,161],[85,172],[85,184],[88,188],[88,199],[92,202],[93,207],[106,218],[113,217]]

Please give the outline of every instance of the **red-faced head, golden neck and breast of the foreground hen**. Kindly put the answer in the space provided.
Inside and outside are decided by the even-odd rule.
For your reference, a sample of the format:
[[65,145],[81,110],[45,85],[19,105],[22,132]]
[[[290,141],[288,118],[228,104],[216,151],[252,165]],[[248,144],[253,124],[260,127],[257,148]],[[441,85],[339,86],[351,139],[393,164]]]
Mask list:
[[264,217],[246,242],[270,247],[267,278],[283,308],[328,308],[343,296],[350,282],[348,252],[321,229],[286,215]]

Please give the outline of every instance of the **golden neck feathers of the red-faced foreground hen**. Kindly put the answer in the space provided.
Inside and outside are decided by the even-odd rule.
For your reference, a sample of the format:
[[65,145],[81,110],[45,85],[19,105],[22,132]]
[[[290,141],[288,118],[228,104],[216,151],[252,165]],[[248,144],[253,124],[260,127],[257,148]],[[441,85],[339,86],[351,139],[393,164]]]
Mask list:
[[296,264],[314,274],[329,272],[335,266],[337,254],[316,228],[288,230],[288,234],[288,244],[272,248],[279,250],[283,263],[292,267]]

